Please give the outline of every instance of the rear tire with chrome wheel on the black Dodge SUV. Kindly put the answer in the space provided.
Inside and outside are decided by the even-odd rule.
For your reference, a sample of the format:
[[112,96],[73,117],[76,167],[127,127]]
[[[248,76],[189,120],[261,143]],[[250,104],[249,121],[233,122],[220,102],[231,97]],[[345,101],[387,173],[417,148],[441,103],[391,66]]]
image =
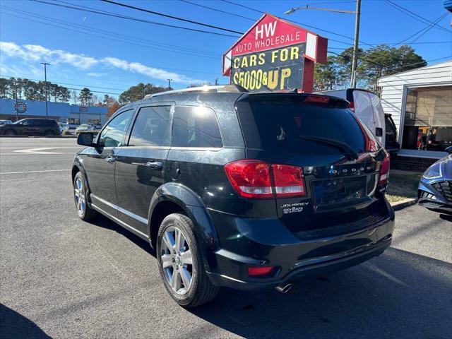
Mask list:
[[[179,233],[176,230],[181,232],[182,241],[179,242],[179,249],[175,251],[175,254],[174,251],[173,254],[169,254],[168,241],[171,244],[174,243],[173,250],[177,249],[176,240]],[[191,255],[184,256],[184,253],[188,252]],[[190,260],[191,265],[189,264]],[[165,261],[165,268],[163,261]],[[157,262],[163,285],[165,285],[172,299],[180,306],[196,307],[210,302],[217,295],[219,288],[210,282],[204,270],[203,256],[198,242],[196,242],[194,223],[186,215],[170,214],[160,224],[157,233]],[[176,272],[176,275],[174,275],[174,272]],[[187,277],[187,272],[191,273],[188,290],[184,285],[184,282],[188,279],[185,278],[184,280],[183,278],[183,275]],[[173,280],[174,277],[176,280]],[[175,282],[175,288],[172,287],[172,281]]]

